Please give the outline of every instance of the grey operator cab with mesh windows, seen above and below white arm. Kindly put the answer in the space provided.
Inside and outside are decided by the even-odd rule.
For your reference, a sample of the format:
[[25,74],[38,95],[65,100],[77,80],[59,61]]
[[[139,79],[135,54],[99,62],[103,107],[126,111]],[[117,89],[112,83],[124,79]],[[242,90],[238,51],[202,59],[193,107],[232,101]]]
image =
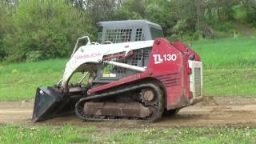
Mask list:
[[[102,33],[98,38],[98,43],[101,44],[148,41],[163,37],[161,26],[145,20],[98,22],[97,25],[102,26]],[[146,67],[150,59],[151,47],[133,50],[133,53],[129,58],[111,61]],[[93,86],[101,86],[136,73],[138,71],[105,63],[98,67],[97,78],[94,79]]]

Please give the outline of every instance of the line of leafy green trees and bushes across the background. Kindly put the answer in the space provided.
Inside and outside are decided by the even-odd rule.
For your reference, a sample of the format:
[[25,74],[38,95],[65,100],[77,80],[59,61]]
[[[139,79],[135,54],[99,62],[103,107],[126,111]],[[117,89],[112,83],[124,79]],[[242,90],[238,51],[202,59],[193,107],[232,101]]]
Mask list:
[[214,26],[237,18],[256,27],[256,1],[0,0],[0,61],[66,57],[78,37],[97,41],[101,21],[146,19],[170,40],[198,40],[218,38]]

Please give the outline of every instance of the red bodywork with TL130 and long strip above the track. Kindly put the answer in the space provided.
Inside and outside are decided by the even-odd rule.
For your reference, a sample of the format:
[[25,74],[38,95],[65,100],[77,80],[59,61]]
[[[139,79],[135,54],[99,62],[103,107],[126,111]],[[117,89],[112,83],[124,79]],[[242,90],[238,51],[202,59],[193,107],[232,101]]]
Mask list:
[[194,54],[195,60],[199,61],[198,54],[186,49],[181,42],[171,44],[164,38],[157,38],[150,54],[150,60],[146,70],[142,73],[122,78],[109,84],[98,86],[89,90],[89,94],[101,90],[110,89],[129,82],[138,82],[145,78],[154,78],[162,83],[166,93],[166,108],[168,110],[190,105],[190,68],[189,55]]

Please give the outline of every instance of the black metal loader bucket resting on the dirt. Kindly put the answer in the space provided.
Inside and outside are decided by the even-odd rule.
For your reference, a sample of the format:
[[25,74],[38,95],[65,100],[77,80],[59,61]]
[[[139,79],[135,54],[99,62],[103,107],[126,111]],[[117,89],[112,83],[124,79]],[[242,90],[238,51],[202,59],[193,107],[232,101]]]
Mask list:
[[54,87],[39,87],[34,100],[32,122],[74,114],[74,106],[82,94],[60,94]]

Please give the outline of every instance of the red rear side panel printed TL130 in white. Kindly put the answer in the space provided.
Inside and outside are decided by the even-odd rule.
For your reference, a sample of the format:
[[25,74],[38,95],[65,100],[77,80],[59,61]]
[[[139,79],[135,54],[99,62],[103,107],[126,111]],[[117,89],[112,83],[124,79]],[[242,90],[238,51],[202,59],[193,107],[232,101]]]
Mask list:
[[166,88],[168,110],[190,105],[188,59],[164,38],[158,38],[150,56],[148,69]]

